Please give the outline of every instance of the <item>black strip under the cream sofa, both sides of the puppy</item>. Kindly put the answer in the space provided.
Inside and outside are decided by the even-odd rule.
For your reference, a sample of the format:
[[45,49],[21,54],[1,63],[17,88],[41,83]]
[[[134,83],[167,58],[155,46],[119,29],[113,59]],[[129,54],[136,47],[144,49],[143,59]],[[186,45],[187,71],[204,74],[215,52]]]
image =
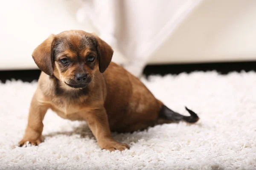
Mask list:
[[[146,77],[159,74],[180,74],[193,71],[212,71],[216,70],[220,74],[227,74],[231,71],[256,71],[256,62],[221,62],[221,63],[201,63],[201,64],[173,64],[173,65],[147,65],[143,71]],[[16,70],[0,71],[0,80],[6,82],[10,79],[20,79],[24,82],[37,80],[40,70]]]

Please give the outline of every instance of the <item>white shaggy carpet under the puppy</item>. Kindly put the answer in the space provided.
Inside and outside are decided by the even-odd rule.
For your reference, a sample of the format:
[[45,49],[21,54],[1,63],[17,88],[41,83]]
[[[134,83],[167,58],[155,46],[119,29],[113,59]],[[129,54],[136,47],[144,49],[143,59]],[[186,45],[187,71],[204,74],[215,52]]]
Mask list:
[[143,82],[167,106],[195,125],[165,124],[148,131],[113,134],[130,150],[100,150],[84,122],[48,111],[45,142],[17,147],[37,83],[0,84],[0,169],[54,170],[253,170],[256,169],[256,73],[216,72],[154,76]]

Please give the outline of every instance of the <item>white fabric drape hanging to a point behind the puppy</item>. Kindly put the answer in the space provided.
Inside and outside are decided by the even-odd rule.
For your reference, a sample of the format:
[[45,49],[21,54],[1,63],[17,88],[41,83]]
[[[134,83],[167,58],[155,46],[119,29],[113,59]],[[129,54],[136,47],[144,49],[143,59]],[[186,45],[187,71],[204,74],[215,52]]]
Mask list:
[[[90,20],[100,37],[140,76],[148,59],[202,0],[84,0],[79,21]],[[172,50],[172,47],[170,47]]]

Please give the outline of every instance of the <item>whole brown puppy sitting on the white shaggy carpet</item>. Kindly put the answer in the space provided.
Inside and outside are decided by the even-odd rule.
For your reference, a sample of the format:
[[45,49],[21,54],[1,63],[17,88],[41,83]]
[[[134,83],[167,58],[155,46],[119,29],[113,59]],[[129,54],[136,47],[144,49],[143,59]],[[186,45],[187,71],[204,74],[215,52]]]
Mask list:
[[28,125],[20,146],[41,143],[43,119],[48,109],[70,120],[85,120],[99,146],[124,150],[111,130],[131,132],[157,123],[197,122],[157,100],[139,79],[111,62],[112,48],[84,31],[51,35],[32,54],[41,69],[38,88],[29,109]]

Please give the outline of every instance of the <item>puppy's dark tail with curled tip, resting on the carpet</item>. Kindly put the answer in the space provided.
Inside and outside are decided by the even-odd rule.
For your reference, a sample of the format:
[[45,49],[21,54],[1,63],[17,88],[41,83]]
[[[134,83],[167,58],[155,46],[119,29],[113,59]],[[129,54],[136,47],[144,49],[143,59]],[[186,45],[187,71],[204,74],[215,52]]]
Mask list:
[[199,120],[198,115],[195,112],[188,109],[187,107],[185,108],[186,108],[186,111],[189,112],[190,116],[183,116],[180,113],[177,113],[167,108],[166,105],[163,105],[159,113],[159,118],[171,120],[173,122],[180,122],[180,121],[185,121],[189,123],[197,122]]

